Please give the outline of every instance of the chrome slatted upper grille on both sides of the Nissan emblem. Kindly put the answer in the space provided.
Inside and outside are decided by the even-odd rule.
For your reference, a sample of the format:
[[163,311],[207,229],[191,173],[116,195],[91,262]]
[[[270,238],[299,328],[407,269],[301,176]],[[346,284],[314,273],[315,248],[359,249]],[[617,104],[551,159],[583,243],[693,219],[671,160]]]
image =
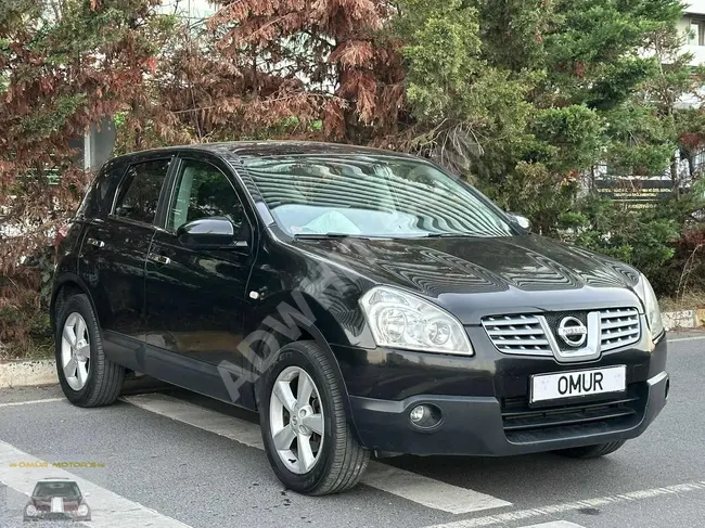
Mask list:
[[[503,353],[555,356],[559,361],[578,361],[587,356],[633,345],[641,337],[641,319],[636,308],[610,308],[588,313],[591,350],[569,350],[556,343],[553,330],[541,314],[491,315],[482,325],[492,345]],[[598,337],[599,336],[599,337]],[[598,345],[599,340],[599,345]]]

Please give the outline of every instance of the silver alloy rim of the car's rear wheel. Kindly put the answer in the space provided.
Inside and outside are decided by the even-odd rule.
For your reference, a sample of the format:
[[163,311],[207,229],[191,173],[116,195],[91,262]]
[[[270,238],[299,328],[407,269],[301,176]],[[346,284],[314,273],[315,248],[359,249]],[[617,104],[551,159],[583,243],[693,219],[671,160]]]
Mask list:
[[86,320],[78,312],[69,313],[64,323],[61,365],[70,388],[80,390],[86,386],[90,372],[90,338]]

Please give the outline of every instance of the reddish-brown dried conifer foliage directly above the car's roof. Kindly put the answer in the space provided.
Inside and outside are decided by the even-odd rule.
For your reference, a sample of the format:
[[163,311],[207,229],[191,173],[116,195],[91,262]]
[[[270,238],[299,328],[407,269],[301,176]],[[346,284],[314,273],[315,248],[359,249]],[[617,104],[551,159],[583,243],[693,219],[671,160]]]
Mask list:
[[[232,83],[189,83],[190,93],[172,91],[172,100],[181,99],[202,129],[238,117],[234,138],[278,136],[282,123],[295,123],[279,131],[370,141],[396,127],[402,101],[400,55],[379,33],[393,14],[388,2],[374,0],[225,0],[208,21],[217,65],[205,70],[225,63]],[[198,54],[193,66],[203,61]],[[322,126],[313,133],[316,121]]]

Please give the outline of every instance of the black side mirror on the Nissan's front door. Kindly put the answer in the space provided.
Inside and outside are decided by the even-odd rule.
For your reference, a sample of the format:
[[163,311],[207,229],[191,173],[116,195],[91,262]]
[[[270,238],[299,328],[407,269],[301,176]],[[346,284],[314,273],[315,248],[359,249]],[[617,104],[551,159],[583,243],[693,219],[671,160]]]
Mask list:
[[179,242],[192,249],[232,249],[248,247],[249,227],[240,233],[226,217],[198,218],[177,229]]

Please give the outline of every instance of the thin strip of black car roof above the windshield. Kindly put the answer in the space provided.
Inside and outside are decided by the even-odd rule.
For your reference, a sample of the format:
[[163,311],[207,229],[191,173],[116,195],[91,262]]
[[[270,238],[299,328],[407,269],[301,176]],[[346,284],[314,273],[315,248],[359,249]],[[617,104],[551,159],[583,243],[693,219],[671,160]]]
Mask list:
[[174,152],[194,151],[208,152],[222,157],[274,157],[274,156],[302,156],[302,155],[360,155],[360,156],[393,156],[415,158],[403,154],[370,146],[346,145],[342,143],[323,143],[316,141],[231,141],[222,143],[198,143],[192,145],[167,146],[149,151],[133,152],[119,156],[119,158],[134,155],[170,154]]

